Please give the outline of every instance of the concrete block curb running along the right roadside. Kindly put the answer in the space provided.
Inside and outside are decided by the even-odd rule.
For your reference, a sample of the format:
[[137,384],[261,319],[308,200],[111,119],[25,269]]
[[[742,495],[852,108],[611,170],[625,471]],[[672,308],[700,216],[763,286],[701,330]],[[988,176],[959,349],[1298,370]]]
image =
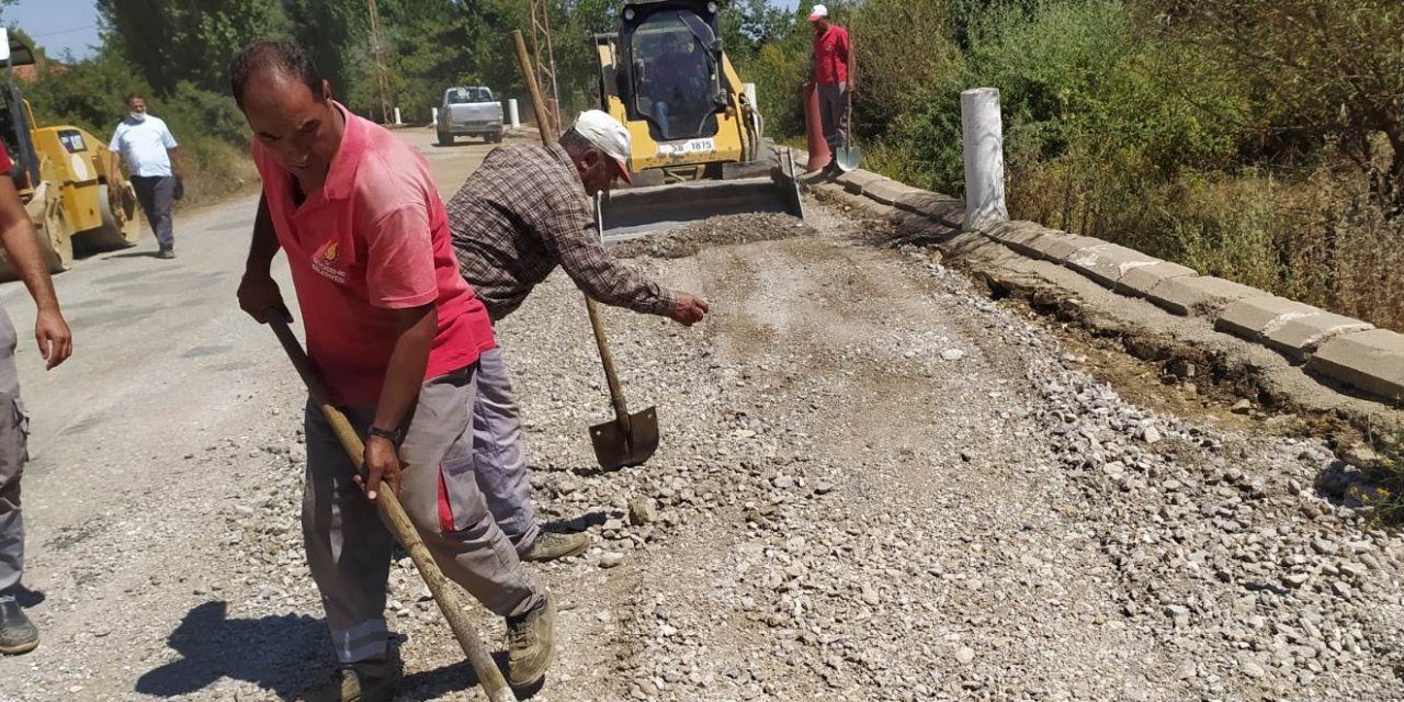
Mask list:
[[1318,378],[1391,404],[1404,403],[1404,334],[1035,222],[998,222],[962,232],[962,201],[862,168],[837,178],[809,174],[800,183],[866,199],[868,209],[889,218],[918,215],[942,232],[938,240],[948,254],[990,261],[1012,253],[1047,261],[1119,295],[1209,322],[1214,330],[1269,348]]

